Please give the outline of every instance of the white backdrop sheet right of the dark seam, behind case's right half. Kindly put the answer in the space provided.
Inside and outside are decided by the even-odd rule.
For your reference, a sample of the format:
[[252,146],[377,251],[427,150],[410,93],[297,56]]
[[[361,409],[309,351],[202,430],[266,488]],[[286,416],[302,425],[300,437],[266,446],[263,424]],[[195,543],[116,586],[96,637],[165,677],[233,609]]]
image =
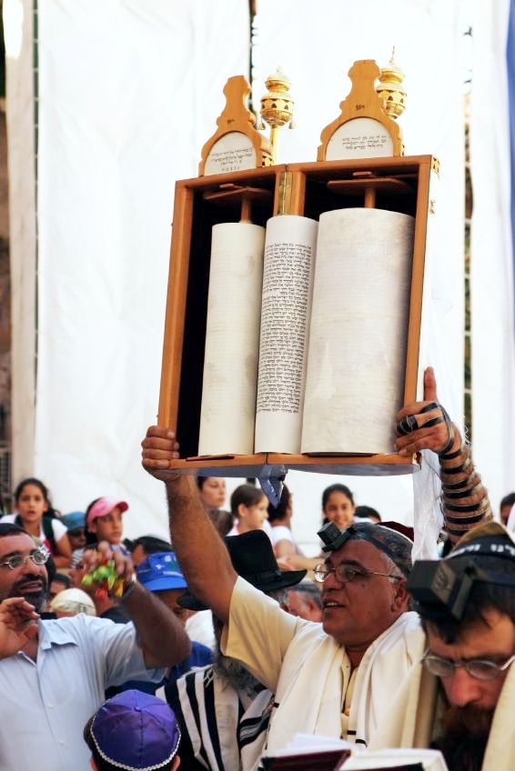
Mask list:
[[[439,397],[458,422],[463,388],[463,74],[459,2],[259,0],[254,104],[279,65],[292,82],[297,128],[281,134],[281,161],[314,161],[322,128],[339,115],[356,59],[386,65],[392,46],[406,73],[408,106],[399,119],[407,155],[436,155],[441,173],[425,361],[433,365]],[[320,522],[323,488],[342,481],[358,504],[386,519],[411,522],[410,477],[332,477],[290,472],[294,531],[306,548]],[[232,487],[232,485],[231,485]]]

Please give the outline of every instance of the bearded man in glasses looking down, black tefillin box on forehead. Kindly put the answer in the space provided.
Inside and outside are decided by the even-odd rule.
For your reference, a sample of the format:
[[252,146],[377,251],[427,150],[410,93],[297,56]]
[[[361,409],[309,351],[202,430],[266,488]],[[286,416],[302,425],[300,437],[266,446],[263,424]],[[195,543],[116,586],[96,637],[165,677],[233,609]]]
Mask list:
[[409,578],[426,652],[372,742],[434,746],[449,771],[515,767],[515,540],[498,523]]

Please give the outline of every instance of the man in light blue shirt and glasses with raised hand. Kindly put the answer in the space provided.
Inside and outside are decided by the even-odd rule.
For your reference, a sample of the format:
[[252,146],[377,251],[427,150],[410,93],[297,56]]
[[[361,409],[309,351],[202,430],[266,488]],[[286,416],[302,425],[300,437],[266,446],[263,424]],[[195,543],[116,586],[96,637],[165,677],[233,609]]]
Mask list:
[[[189,653],[186,632],[174,614],[132,580],[130,561],[107,544],[89,553],[113,558],[123,578],[120,602],[133,624],[80,614],[35,619],[45,607],[49,552],[16,525],[0,523],[0,768],[69,771],[89,767],[82,729],[105,700],[107,686],[129,679],[160,681],[165,669]],[[85,556],[86,560],[86,556]],[[11,600],[28,622],[16,626],[2,612]],[[22,603],[21,606],[18,603]],[[23,603],[30,605],[24,605]],[[34,610],[32,610],[34,608]],[[30,610],[29,610],[30,609]],[[7,621],[5,620],[7,618]],[[15,617],[16,621],[16,617]]]

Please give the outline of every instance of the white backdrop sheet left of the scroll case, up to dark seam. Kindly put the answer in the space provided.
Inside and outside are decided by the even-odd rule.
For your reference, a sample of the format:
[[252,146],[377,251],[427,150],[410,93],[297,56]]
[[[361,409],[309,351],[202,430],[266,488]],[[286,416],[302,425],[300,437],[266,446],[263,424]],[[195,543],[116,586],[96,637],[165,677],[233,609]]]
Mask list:
[[139,443],[157,415],[174,184],[197,175],[247,39],[240,0],[39,4],[35,473],[64,511],[126,499],[126,535],[167,529]]

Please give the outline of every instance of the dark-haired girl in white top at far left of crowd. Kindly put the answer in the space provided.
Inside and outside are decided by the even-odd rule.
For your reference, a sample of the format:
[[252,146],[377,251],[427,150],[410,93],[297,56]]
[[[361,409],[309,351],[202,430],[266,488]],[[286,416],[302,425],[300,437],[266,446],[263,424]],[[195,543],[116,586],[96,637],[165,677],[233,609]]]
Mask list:
[[15,513],[2,517],[2,522],[14,522],[29,536],[45,544],[54,557],[56,567],[69,567],[72,547],[66,526],[57,518],[47,487],[40,479],[28,477],[15,489]]

